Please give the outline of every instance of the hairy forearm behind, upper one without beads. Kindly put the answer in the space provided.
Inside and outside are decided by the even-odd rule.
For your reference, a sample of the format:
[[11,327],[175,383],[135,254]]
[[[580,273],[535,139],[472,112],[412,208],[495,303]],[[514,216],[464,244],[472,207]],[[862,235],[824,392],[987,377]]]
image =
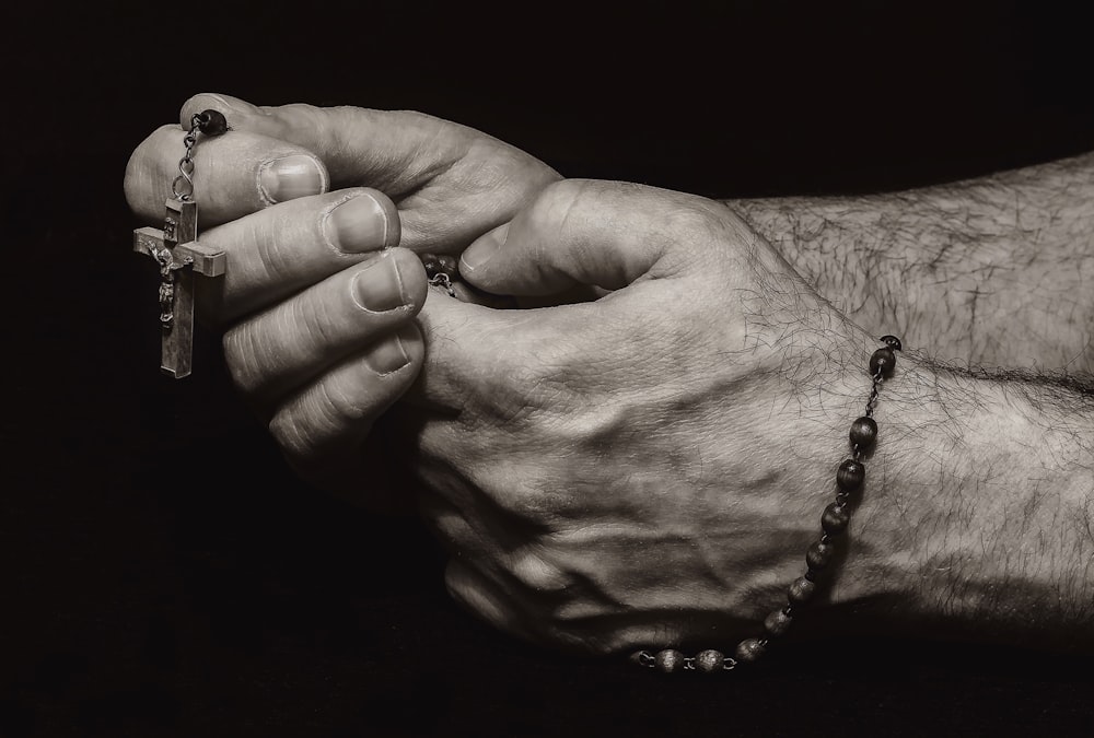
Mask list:
[[1094,371],[1094,154],[900,192],[729,204],[868,330],[963,364]]

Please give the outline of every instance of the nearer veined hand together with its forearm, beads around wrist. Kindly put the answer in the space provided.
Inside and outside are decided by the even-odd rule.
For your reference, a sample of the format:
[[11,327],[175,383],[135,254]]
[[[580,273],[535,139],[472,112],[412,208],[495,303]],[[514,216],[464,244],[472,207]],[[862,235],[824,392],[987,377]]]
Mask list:
[[[479,249],[482,289],[614,292],[526,315],[427,302],[444,349],[422,391],[453,412],[421,422],[417,465],[453,593],[582,649],[746,634],[804,571],[876,339],[732,211],[677,192],[554,185],[465,262]],[[899,362],[827,604],[1089,643],[1089,388]]]

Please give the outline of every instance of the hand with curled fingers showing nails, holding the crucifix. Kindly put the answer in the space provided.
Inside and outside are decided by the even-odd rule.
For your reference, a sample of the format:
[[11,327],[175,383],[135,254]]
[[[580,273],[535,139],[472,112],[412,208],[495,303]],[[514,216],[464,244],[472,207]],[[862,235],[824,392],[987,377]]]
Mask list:
[[[416,113],[197,95],[184,125],[206,108],[224,113],[231,130],[197,147],[195,199],[201,241],[228,253],[229,269],[199,280],[199,307],[226,328],[232,376],[290,462],[324,485],[353,479],[359,492],[372,421],[421,363],[411,319],[424,278],[404,249],[458,253],[558,175]],[[127,167],[130,207],[149,223],[162,221],[183,136],[160,128]]]

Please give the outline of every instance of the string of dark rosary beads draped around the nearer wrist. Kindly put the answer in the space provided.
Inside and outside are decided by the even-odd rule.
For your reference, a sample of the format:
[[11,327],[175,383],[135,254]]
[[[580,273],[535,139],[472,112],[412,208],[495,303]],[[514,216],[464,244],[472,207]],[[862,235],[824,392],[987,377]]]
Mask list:
[[836,500],[824,508],[821,515],[821,538],[805,553],[805,573],[794,579],[787,590],[787,604],[771,611],[764,619],[764,634],[745,639],[737,644],[733,656],[720,651],[708,648],[695,656],[685,656],[675,648],[663,648],[656,653],[639,651],[631,659],[639,666],[673,671],[725,671],[736,668],[738,664],[752,664],[758,660],[767,651],[772,639],[783,635],[790,630],[798,611],[813,599],[817,591],[817,578],[831,563],[836,555],[838,541],[842,537],[851,519],[849,503],[851,495],[862,489],[866,478],[863,456],[877,440],[877,423],[874,421],[874,408],[877,405],[877,390],[882,383],[893,374],[896,366],[896,354],[900,351],[900,339],[896,336],[882,336],[884,349],[877,349],[870,356],[870,376],[872,385],[866,399],[866,411],[851,423],[848,440],[851,445],[851,458],[845,459],[836,470]]

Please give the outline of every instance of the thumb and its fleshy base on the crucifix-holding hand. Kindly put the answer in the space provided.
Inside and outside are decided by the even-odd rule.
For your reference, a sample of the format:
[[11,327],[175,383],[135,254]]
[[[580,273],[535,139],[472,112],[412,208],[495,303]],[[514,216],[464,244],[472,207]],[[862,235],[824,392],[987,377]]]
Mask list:
[[214,108],[237,131],[283,139],[318,156],[335,187],[375,187],[399,204],[401,245],[457,254],[509,221],[558,173],[466,126],[406,110],[282,105],[257,107],[201,94],[182,118]]

